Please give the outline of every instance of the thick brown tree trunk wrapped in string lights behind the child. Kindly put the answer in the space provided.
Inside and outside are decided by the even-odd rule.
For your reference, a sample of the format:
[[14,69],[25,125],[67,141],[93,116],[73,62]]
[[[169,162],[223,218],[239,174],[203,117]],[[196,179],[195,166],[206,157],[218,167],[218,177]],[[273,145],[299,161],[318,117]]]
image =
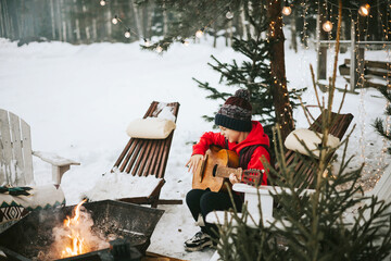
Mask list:
[[268,38],[270,40],[270,69],[274,90],[273,99],[277,123],[280,124],[281,138],[294,129],[293,111],[289,102],[285,69],[285,36],[282,32],[281,0],[267,0],[269,18]]

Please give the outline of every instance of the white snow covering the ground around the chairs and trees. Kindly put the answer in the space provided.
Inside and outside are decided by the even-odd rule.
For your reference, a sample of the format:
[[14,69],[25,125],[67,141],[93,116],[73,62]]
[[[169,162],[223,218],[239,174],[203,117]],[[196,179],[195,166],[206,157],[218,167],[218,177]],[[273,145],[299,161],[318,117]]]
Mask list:
[[[308,87],[303,100],[316,104],[310,74],[310,63],[316,72],[314,49],[294,53],[286,49],[286,69],[289,88]],[[339,63],[349,58],[341,54]],[[0,39],[0,108],[24,119],[31,127],[33,149],[51,151],[80,162],[72,166],[62,179],[67,204],[76,204],[85,195],[91,198],[93,187],[102,188],[100,196],[116,197],[118,184],[127,183],[121,173],[110,173],[116,158],[125,147],[127,124],[141,117],[152,101],[180,103],[173,145],[166,167],[161,198],[184,199],[191,188],[191,174],[185,163],[191,154],[191,144],[212,124],[202,115],[211,115],[219,101],[207,100],[192,77],[218,85],[219,75],[207,62],[210,55],[223,62],[243,57],[226,48],[222,42],[212,48],[204,40],[184,47],[174,45],[163,55],[141,51],[139,44],[92,44],[72,46],[64,42],[31,42],[16,47],[16,42]],[[367,51],[367,58],[390,61],[387,51]],[[332,72],[332,51],[329,52],[328,75]],[[338,77],[337,86],[345,82]],[[234,88],[224,88],[234,92]],[[320,96],[325,94],[319,92]],[[333,111],[338,110],[342,92],[336,91]],[[321,100],[321,97],[320,97]],[[348,94],[342,112],[354,115],[348,129],[353,129],[349,153],[356,157],[352,166],[366,162],[363,181],[377,179],[390,157],[383,152],[388,147],[370,124],[383,117],[386,100],[373,89]],[[316,109],[312,110],[318,115]],[[301,109],[294,111],[297,127],[308,123]],[[341,151],[338,151],[340,154]],[[337,164],[338,165],[338,164]],[[34,159],[36,183],[51,182],[50,165]],[[106,175],[102,175],[105,174]],[[136,183],[138,191],[146,192],[150,181]],[[144,191],[143,191],[144,190]],[[184,241],[191,237],[194,226],[186,203],[159,206],[165,213],[159,222],[149,251],[185,260],[209,260],[213,250],[186,252]]]

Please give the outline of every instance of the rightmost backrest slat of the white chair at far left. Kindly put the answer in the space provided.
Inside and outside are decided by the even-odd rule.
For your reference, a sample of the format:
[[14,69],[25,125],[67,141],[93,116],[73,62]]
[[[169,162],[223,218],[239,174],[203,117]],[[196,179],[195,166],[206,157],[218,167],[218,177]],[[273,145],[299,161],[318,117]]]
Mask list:
[[31,134],[29,125],[21,119],[21,129],[22,129],[22,150],[24,159],[24,173],[25,178],[24,185],[34,184],[34,173],[33,173],[33,156],[31,156]]

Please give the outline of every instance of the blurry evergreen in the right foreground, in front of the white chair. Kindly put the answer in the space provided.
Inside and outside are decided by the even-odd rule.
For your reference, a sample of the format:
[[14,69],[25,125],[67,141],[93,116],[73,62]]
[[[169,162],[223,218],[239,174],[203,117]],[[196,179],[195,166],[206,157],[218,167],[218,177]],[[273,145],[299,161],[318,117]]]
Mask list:
[[[339,21],[341,21],[342,2],[339,1]],[[338,24],[336,59],[339,52],[340,22]],[[313,71],[312,71],[313,73]],[[325,113],[321,121],[321,145],[319,159],[314,156],[310,161],[315,163],[316,174],[306,181],[306,173],[300,173],[297,164],[285,162],[285,148],[281,139],[275,144],[278,172],[270,166],[273,196],[278,202],[278,211],[270,225],[262,220],[253,220],[247,212],[245,204],[241,215],[234,211],[234,220],[219,226],[220,239],[217,251],[223,260],[384,260],[391,253],[391,203],[376,197],[357,197],[362,192],[357,184],[362,166],[348,167],[352,158],[346,157],[349,136],[341,142],[344,148],[340,169],[333,172],[326,159],[332,150],[327,145],[330,126],[330,112],[333,100],[336,70],[329,86],[327,105],[318,103]],[[314,88],[316,88],[314,80]],[[316,89],[315,89],[316,90]],[[317,92],[316,92],[317,94]],[[279,134],[276,126],[275,135]],[[308,151],[310,152],[310,151]],[[333,175],[325,175],[325,171]],[[299,187],[297,184],[301,184]],[[314,187],[313,191],[306,187]],[[262,201],[260,202],[262,204]],[[358,208],[360,207],[360,208]],[[352,210],[356,212],[353,212]],[[249,226],[248,221],[253,225]]]

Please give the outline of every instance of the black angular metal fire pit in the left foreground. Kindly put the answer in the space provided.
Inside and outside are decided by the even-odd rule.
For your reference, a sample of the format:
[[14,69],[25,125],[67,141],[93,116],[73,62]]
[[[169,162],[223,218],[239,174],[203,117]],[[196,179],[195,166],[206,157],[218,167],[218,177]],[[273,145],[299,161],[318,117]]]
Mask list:
[[[138,204],[103,200],[83,204],[93,221],[91,232],[103,236],[108,241],[116,239],[136,248],[144,254],[150,237],[164,210],[140,207]],[[0,234],[0,249],[11,260],[39,260],[54,243],[53,228],[61,226],[72,215],[74,206],[33,211]],[[110,239],[108,239],[110,238]],[[113,260],[102,259],[110,249],[98,249],[89,256],[100,254],[100,259],[86,254],[72,257],[73,260]],[[106,254],[108,256],[108,254]],[[65,259],[64,259],[65,260]],[[67,258],[66,260],[70,260]]]

